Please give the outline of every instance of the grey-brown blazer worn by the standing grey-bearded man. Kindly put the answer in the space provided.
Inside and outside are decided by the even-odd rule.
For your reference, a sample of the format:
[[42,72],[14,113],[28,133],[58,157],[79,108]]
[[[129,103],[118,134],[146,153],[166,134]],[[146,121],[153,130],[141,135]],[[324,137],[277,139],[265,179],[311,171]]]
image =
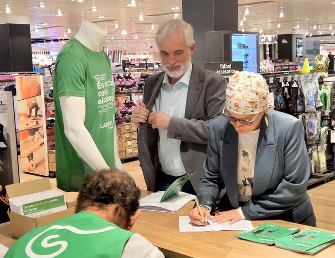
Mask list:
[[[165,72],[162,72],[146,80],[143,102],[149,111],[159,94],[164,75]],[[202,165],[207,157],[209,120],[222,113],[226,87],[224,77],[193,65],[185,118],[172,117],[168,125],[168,138],[182,140],[180,153],[186,172],[197,172],[190,179],[196,191],[204,175]],[[148,122],[139,126],[138,156],[149,191],[156,190],[156,174],[160,169],[157,141],[158,130],[153,130]]]

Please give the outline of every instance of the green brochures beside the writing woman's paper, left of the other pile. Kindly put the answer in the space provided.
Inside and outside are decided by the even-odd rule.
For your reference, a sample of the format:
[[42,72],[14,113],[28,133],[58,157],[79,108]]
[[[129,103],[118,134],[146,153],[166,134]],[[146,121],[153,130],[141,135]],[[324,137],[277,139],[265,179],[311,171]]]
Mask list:
[[254,229],[241,232],[235,235],[235,237],[272,245],[274,244],[274,240],[294,234],[299,230],[299,227],[283,227],[271,222],[266,222]]

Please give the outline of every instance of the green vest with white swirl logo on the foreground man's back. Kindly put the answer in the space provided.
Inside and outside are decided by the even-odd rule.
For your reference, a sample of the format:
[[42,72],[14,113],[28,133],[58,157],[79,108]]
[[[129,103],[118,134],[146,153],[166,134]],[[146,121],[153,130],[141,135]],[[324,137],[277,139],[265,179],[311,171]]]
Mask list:
[[117,258],[133,234],[83,211],[28,232],[5,258]]

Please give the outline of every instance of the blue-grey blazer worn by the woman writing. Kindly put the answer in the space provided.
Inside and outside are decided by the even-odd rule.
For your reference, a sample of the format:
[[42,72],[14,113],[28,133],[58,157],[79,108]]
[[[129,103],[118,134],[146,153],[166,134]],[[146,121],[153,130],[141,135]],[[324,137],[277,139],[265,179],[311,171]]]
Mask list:
[[[241,206],[248,220],[280,219],[316,226],[307,193],[310,175],[304,129],[295,117],[269,110],[259,133],[251,199]],[[200,203],[212,206],[221,189],[221,209],[238,208],[237,132],[223,116],[209,126],[205,177],[199,186]],[[219,208],[220,209],[220,208]]]

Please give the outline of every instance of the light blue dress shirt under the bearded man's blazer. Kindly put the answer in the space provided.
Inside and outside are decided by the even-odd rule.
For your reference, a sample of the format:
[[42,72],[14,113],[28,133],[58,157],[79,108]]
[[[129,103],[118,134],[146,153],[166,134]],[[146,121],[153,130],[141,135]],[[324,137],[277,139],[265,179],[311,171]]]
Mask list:
[[[190,62],[186,72],[175,85],[168,82],[168,74],[165,74],[163,85],[152,111],[162,111],[169,116],[184,118],[191,72],[192,63]],[[158,158],[161,170],[171,176],[186,174],[182,157],[180,156],[180,144],[182,141],[168,139],[168,130],[158,129],[158,132]]]

